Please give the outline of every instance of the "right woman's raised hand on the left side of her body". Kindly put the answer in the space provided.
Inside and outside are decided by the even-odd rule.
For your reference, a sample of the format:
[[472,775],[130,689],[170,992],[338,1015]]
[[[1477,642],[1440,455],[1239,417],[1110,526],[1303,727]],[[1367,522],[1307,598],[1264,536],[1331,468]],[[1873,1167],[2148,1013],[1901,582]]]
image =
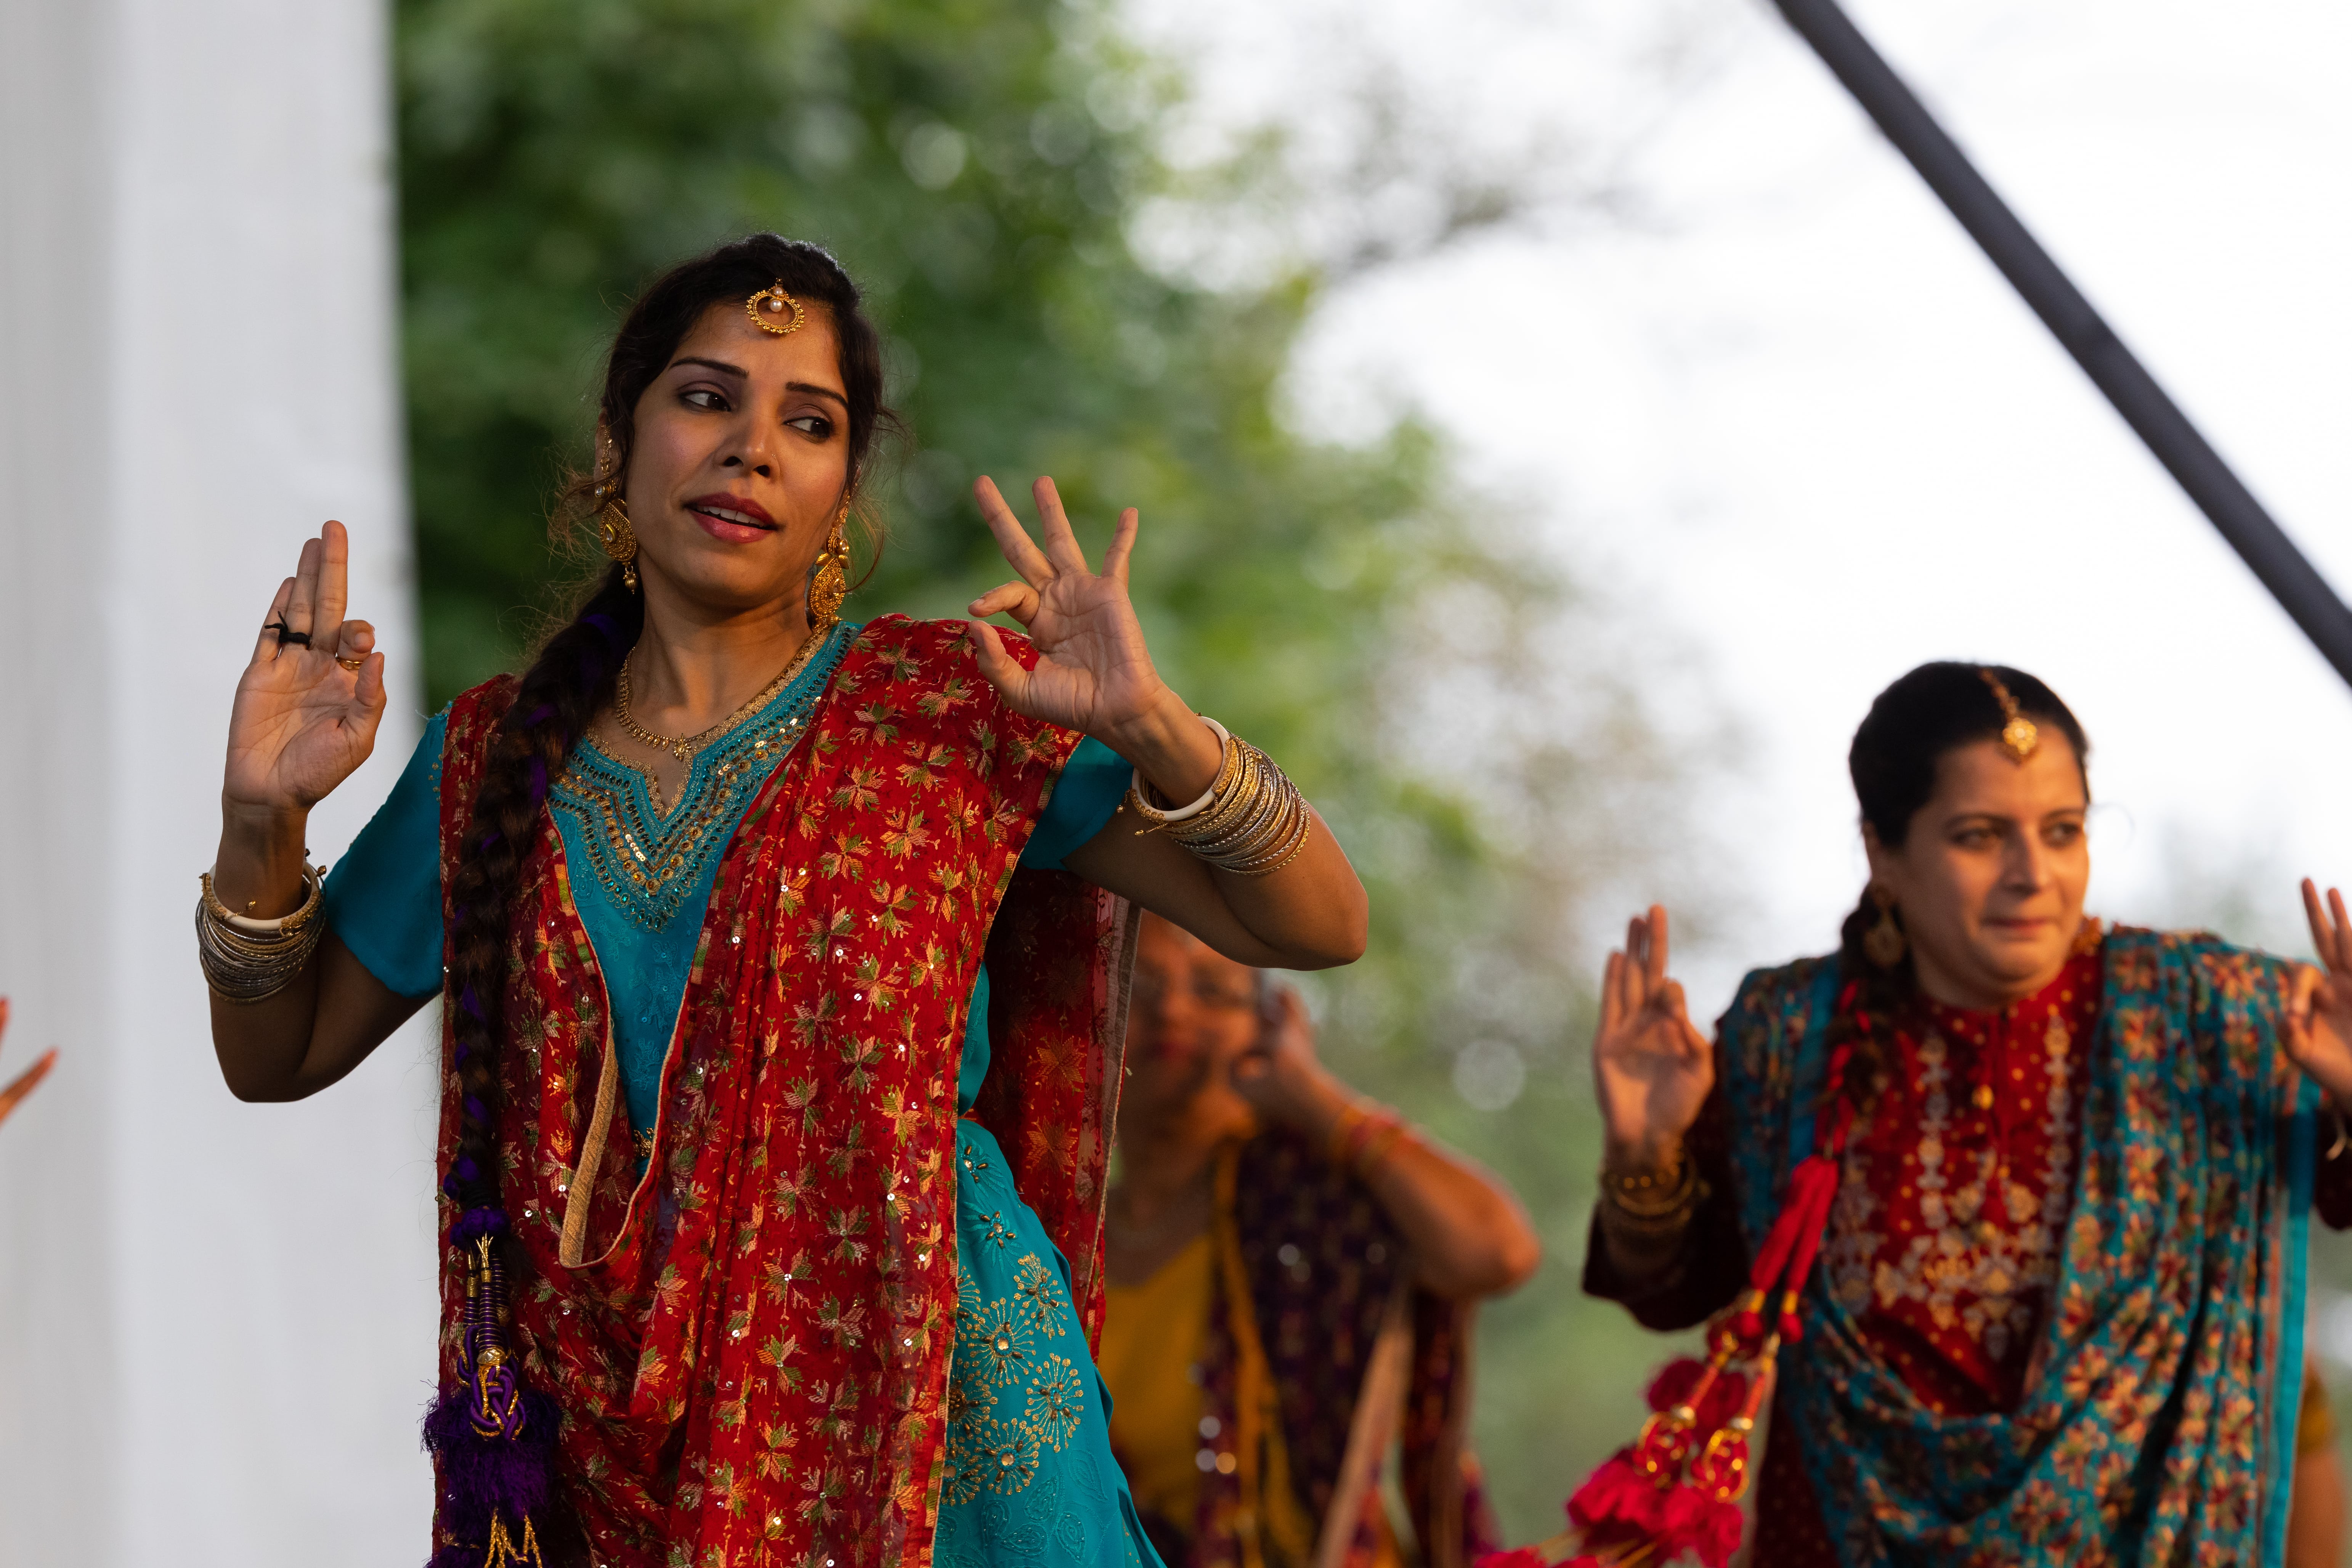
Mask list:
[[1682,983],[1665,978],[1665,907],[1625,926],[1623,952],[1609,954],[1602,1020],[1592,1032],[1592,1086],[1602,1103],[1611,1159],[1658,1166],[1715,1088],[1715,1053],[1691,1027]]

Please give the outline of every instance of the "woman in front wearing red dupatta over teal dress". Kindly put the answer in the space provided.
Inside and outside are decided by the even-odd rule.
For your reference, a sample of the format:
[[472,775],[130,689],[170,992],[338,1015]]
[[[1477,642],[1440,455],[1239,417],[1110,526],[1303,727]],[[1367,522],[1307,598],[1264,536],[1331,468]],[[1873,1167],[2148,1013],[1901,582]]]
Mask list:
[[1021,581],[837,625],[880,393],[816,247],[656,280],[572,496],[612,571],[327,891],[303,820],[386,703],[339,524],[240,679],[198,910],[230,1088],[445,1001],[435,1568],[1155,1561],[1089,1349],[1129,903],[1324,966],[1364,893],[1152,670],[1134,510],[1096,574],[1049,482],[1033,543],[983,480]]

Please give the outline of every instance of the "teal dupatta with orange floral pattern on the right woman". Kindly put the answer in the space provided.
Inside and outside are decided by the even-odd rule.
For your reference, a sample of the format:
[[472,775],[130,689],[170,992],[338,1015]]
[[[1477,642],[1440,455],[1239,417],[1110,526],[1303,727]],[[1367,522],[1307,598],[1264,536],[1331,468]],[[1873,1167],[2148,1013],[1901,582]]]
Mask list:
[[[2065,1255],[2016,1410],[1929,1410],[1816,1269],[1778,1418],[1839,1561],[2281,1561],[2319,1110],[2279,1044],[2288,978],[2201,933],[2107,936]],[[1837,992],[1837,961],[1806,959],[1748,976],[1724,1018],[1750,1251],[1813,1150]]]

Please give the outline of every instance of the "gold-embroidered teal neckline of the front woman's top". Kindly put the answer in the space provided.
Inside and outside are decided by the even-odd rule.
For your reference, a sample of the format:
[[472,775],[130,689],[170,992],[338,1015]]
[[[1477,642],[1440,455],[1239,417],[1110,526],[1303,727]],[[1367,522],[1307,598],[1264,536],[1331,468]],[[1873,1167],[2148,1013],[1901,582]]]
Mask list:
[[644,773],[595,741],[572,750],[548,802],[581,825],[588,870],[621,914],[647,931],[661,931],[687,896],[703,886],[750,797],[809,729],[809,715],[826,698],[851,630],[833,628],[828,646],[816,651],[774,703],[696,752],[668,816],[654,809]]

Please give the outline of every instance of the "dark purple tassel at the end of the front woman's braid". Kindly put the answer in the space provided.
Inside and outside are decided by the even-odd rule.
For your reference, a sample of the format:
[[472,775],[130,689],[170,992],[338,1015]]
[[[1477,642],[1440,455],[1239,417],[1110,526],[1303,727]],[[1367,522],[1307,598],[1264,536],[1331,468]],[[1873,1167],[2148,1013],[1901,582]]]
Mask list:
[[546,1568],[534,1516],[555,1486],[555,1401],[522,1385],[506,1347],[506,1213],[473,1208],[449,1227],[466,1258],[466,1373],[426,1413],[440,1476],[426,1568]]

